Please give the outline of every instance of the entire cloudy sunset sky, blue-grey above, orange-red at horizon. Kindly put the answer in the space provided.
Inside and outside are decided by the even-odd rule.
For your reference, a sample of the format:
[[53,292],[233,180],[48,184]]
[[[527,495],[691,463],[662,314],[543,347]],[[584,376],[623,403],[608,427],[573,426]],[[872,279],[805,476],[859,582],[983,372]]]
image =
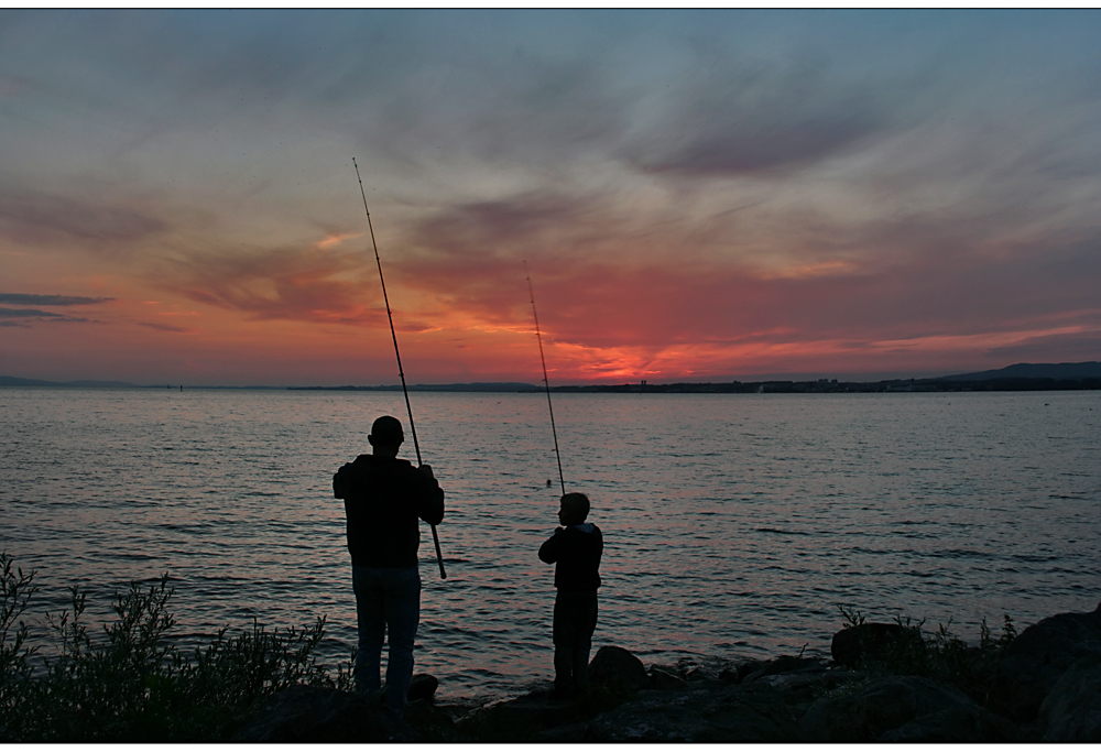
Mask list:
[[0,10],[0,374],[1101,360],[1101,11]]

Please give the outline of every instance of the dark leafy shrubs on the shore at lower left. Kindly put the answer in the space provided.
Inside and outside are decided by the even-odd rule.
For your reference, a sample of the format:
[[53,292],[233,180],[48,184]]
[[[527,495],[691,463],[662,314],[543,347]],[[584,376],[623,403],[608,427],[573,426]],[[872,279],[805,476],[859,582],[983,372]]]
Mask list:
[[34,574],[0,554],[0,742],[218,741],[294,684],[351,686],[350,666],[333,677],[314,655],[324,618],[284,630],[253,620],[192,653],[178,650],[165,640],[174,624],[166,574],[116,593],[116,619],[95,636],[84,619],[86,593],[72,588],[70,607],[46,614],[56,650],[42,655],[26,646],[22,618]]

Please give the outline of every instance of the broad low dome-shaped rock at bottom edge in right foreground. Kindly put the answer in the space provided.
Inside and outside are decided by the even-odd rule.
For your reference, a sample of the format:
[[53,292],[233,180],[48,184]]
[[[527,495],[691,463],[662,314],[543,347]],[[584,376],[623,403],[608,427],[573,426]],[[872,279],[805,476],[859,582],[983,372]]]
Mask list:
[[[952,721],[952,726],[940,728]],[[890,676],[815,700],[803,717],[803,733],[811,741],[986,741],[979,735],[1003,731],[1015,739],[1012,727],[975,705],[963,693],[941,687],[922,676]]]

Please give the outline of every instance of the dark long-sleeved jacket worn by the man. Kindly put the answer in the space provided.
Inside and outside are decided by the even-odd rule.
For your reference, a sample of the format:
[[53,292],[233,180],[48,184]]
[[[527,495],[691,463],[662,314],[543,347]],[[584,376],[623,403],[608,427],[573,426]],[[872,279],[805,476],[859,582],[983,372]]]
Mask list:
[[417,520],[444,519],[444,491],[407,459],[360,455],[333,476],[333,494],[345,500],[348,551],[356,567],[415,567]]

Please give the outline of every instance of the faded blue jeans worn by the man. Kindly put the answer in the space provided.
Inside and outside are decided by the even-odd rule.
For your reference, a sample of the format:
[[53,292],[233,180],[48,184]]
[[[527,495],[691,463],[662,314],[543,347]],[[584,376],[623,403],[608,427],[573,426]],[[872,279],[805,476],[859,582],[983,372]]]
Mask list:
[[378,693],[382,643],[389,632],[385,704],[401,710],[413,680],[413,643],[421,620],[421,573],[416,567],[384,569],[351,568],[359,619],[356,653],[356,688]]

